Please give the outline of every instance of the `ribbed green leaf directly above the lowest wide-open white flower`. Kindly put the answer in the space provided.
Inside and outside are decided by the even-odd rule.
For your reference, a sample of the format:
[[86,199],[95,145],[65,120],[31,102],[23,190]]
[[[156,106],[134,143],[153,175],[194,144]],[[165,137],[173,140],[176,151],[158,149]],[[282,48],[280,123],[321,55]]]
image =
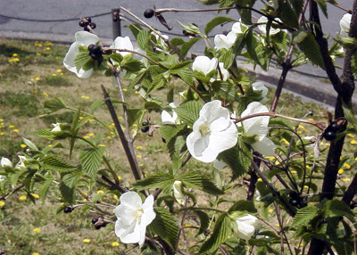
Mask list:
[[137,180],[134,185],[135,189],[142,191],[145,189],[160,188],[160,189],[171,189],[175,179],[172,175],[165,172],[158,172],[145,179]]

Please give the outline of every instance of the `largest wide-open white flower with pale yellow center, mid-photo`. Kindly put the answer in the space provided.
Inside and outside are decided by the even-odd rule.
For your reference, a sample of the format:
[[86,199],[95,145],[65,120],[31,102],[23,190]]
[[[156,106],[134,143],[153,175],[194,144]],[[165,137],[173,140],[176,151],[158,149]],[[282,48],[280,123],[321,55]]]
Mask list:
[[237,144],[237,127],[219,100],[203,105],[193,132],[187,136],[187,149],[196,160],[214,161],[220,152]]

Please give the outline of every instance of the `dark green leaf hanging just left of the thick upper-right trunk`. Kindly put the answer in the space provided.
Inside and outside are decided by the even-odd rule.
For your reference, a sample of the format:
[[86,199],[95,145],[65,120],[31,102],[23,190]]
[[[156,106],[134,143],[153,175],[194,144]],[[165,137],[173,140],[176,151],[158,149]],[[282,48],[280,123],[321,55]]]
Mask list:
[[297,45],[313,64],[325,70],[325,64],[320,53],[320,46],[311,33],[308,33],[308,35],[303,38],[303,41]]

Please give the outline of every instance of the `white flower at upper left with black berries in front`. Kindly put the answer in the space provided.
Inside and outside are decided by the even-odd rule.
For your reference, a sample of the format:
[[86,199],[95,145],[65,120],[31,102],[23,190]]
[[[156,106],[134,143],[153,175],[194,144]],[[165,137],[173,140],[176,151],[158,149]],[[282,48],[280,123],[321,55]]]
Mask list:
[[79,78],[89,78],[93,73],[93,69],[77,70],[77,67],[74,64],[74,60],[76,59],[77,54],[79,53],[79,46],[95,45],[99,41],[99,38],[87,31],[79,31],[75,34],[75,37],[76,41],[71,44],[70,49],[64,57],[63,64],[68,70],[71,70],[72,72],[76,73]]

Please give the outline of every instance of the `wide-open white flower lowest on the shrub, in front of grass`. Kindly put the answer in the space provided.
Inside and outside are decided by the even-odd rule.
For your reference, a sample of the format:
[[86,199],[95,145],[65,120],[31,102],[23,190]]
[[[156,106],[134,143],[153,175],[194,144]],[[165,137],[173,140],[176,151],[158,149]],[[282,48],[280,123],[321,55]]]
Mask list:
[[120,205],[115,208],[114,213],[118,218],[115,222],[115,234],[122,243],[138,243],[140,247],[143,246],[146,226],[156,217],[153,205],[153,195],[147,196],[144,203],[135,192],[120,196]]

